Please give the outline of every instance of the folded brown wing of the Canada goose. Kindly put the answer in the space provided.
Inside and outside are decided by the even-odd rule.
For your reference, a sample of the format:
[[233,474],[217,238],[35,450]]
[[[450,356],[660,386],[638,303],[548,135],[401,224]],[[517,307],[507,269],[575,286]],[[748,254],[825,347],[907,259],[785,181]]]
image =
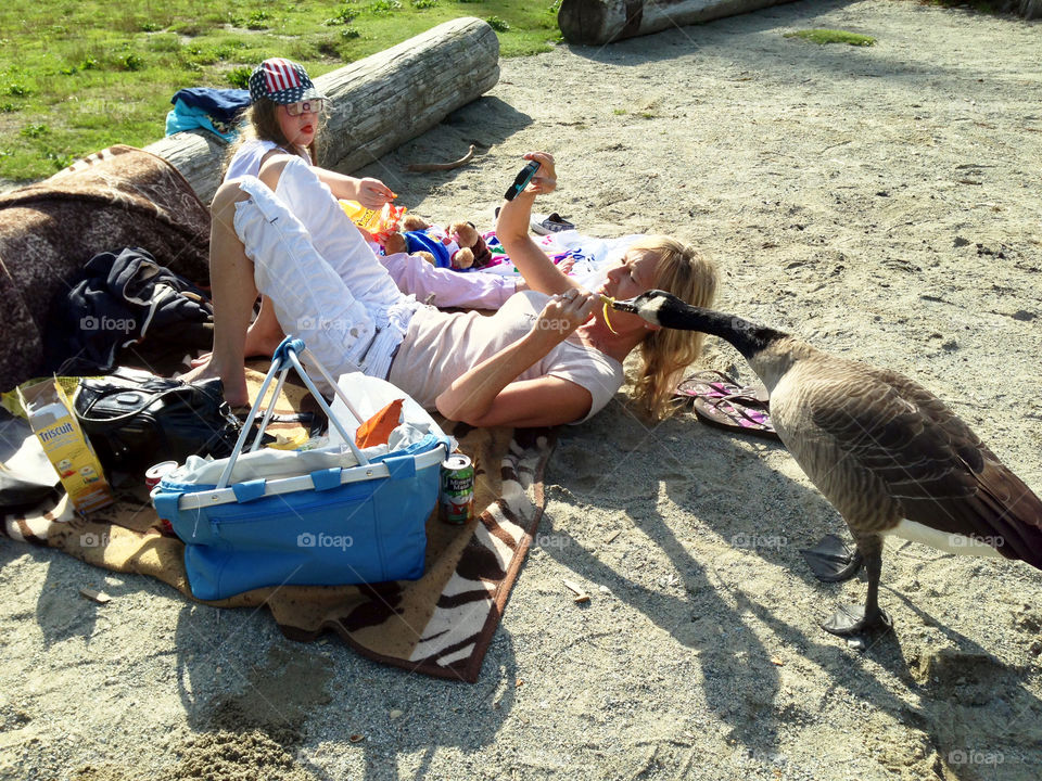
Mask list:
[[904,517],[986,538],[1042,568],[1042,502],[933,394],[859,366],[818,396],[814,424],[886,486]]

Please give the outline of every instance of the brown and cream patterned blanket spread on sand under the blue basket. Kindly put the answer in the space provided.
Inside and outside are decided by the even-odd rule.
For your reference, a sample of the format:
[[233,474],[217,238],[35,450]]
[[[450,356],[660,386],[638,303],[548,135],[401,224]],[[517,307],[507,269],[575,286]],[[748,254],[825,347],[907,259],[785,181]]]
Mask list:
[[[262,379],[250,372],[252,392]],[[288,384],[276,412],[291,415],[308,398],[303,388]],[[266,605],[293,640],[310,641],[329,630],[379,662],[476,681],[543,513],[543,472],[555,439],[550,430],[453,428],[440,423],[474,461],[475,507],[481,510],[466,526],[447,525],[432,514],[422,578],[262,588],[207,604]],[[115,504],[87,517],[75,514],[62,494],[43,507],[5,516],[2,532],[105,569],[158,578],[191,598],[185,545],[161,533],[143,485],[122,491]]]

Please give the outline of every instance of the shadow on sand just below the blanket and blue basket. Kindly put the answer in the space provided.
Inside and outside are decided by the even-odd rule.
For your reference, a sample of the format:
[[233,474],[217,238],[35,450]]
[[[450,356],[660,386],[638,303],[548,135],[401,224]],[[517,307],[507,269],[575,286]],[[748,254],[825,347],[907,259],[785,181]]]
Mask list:
[[422,779],[439,746],[470,752],[491,744],[514,704],[517,663],[501,627],[484,674],[468,686],[389,667],[335,639],[293,642],[272,627],[266,611],[255,617],[247,610],[182,609],[177,684],[195,730],[186,747],[196,761],[239,752],[251,773],[277,777],[289,756],[293,767],[333,779],[340,776],[323,768],[353,744],[365,756],[360,778],[397,778],[393,757],[422,752],[410,774]]

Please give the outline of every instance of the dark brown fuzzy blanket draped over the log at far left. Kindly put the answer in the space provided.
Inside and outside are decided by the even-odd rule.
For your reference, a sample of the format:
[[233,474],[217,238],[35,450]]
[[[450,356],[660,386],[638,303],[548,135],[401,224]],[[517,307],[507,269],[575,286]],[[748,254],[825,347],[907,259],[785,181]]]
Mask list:
[[0,195],[0,390],[33,376],[48,307],[100,252],[139,246],[161,266],[208,284],[209,213],[166,161],[112,146],[37,184]]

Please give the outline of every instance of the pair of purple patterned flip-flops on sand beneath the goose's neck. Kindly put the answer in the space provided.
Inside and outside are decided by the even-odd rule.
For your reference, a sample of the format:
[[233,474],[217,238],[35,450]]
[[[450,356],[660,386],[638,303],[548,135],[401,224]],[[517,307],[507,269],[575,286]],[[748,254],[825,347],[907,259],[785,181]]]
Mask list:
[[674,396],[690,398],[695,414],[709,425],[779,439],[763,386],[742,387],[723,372],[703,371],[684,380]]

